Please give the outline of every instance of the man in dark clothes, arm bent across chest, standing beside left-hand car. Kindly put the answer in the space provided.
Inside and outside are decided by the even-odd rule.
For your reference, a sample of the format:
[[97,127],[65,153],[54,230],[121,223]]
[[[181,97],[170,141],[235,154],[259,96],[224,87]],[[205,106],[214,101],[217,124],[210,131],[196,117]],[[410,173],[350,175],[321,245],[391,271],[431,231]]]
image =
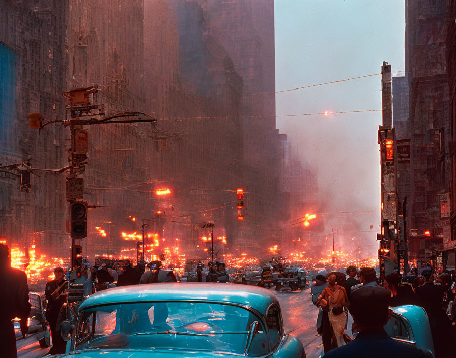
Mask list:
[[46,283],[46,318],[52,336],[52,348],[49,353],[64,354],[67,342],[60,335],[59,312],[62,305],[66,302],[66,295],[62,294],[68,289],[68,281],[65,279],[65,272],[62,267],[54,268],[54,279]]

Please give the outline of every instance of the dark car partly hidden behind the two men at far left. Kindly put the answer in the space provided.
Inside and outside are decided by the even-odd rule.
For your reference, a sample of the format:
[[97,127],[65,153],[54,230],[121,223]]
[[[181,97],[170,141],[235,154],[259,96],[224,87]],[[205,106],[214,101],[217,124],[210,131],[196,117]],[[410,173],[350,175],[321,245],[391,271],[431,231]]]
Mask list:
[[[42,348],[49,347],[50,330],[49,323],[46,321],[46,297],[44,293],[30,292],[30,315],[27,319],[29,333],[38,333],[44,331],[44,337],[39,340]],[[13,319],[13,326],[16,333],[20,333],[20,319]]]

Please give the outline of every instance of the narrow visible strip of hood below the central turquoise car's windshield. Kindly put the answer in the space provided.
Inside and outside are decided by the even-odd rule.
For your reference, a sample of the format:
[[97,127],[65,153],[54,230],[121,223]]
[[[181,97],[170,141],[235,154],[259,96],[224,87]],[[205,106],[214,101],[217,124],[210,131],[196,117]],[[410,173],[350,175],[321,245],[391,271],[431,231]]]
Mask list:
[[234,357],[237,354],[182,349],[84,349],[71,354],[57,355],[60,358],[211,358]]

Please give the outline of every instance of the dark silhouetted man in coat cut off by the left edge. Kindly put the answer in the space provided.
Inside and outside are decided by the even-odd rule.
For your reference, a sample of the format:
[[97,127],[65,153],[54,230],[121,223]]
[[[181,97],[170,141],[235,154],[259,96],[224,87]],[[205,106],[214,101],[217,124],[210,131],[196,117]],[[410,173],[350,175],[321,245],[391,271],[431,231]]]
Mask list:
[[30,314],[29,285],[27,275],[17,268],[11,267],[9,248],[0,244],[0,341],[2,342],[2,356],[17,357],[16,335],[14,333],[14,318],[20,318],[22,334],[29,331],[27,318]]

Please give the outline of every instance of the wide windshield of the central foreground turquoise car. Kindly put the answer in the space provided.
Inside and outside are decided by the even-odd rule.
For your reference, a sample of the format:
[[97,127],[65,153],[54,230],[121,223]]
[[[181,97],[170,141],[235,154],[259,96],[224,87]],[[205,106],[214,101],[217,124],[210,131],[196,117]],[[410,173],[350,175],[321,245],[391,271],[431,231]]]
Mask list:
[[[79,313],[75,349],[175,349],[243,354],[259,317],[242,307],[197,302],[121,303]],[[265,334],[259,326],[259,333]]]

